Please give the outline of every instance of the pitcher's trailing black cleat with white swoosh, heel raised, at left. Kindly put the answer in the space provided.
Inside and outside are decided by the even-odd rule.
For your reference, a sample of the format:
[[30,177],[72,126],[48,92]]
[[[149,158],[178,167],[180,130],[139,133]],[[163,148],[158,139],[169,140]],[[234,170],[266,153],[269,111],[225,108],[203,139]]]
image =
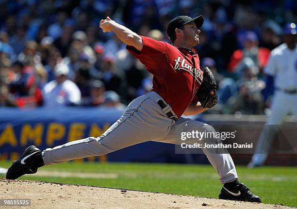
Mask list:
[[21,157],[14,161],[10,168],[8,168],[6,179],[14,180],[25,174],[35,174],[38,168],[36,165],[36,155],[40,155],[41,157],[41,152],[36,146],[32,145],[26,148]]

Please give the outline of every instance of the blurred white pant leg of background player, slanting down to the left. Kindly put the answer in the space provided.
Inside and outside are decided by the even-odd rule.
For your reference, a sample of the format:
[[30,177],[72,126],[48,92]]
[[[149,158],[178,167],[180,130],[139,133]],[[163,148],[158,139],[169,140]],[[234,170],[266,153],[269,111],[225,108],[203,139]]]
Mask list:
[[267,123],[264,126],[258,139],[255,154],[252,156],[252,164],[262,165],[267,159],[271,143],[278,134],[279,127],[273,125],[281,125],[286,114],[289,112],[291,105],[289,97],[286,93],[276,91],[271,104],[271,114],[267,117]]

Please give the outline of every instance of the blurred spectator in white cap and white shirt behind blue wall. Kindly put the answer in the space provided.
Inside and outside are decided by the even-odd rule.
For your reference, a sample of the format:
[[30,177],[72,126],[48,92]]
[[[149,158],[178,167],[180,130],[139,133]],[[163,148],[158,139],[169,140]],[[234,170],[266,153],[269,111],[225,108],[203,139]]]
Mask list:
[[81,102],[81,92],[78,86],[68,79],[69,68],[66,64],[57,64],[54,68],[55,80],[44,86],[44,106],[59,108],[67,105],[77,105]]

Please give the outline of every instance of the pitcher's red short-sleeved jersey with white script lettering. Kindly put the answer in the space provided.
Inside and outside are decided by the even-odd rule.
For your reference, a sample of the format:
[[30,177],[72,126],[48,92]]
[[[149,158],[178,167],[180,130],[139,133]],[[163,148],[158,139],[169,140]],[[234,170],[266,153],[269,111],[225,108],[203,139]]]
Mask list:
[[[127,50],[153,74],[153,89],[180,117],[193,101],[203,80],[198,54],[166,42],[141,36],[142,51],[132,46]],[[195,63],[194,63],[195,62]]]

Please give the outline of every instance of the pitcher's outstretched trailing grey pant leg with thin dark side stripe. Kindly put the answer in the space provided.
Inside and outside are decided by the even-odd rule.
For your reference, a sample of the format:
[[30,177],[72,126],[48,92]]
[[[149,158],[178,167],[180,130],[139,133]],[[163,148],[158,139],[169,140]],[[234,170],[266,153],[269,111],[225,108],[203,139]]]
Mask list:
[[134,99],[123,115],[100,137],[66,143],[42,152],[46,165],[90,156],[100,156],[127,146],[164,138],[172,120],[160,114],[148,96]]

